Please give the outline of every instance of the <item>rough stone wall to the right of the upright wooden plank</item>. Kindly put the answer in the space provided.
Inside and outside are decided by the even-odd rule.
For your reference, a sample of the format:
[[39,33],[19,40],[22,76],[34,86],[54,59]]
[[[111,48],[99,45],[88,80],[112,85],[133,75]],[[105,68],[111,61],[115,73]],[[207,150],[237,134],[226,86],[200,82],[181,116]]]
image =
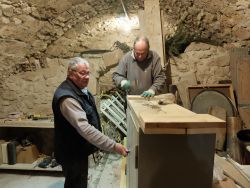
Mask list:
[[[189,72],[202,84],[230,79],[230,48],[250,48],[250,2],[247,0],[161,1],[165,38],[178,28],[193,36],[179,57],[171,58],[172,83]],[[178,14],[181,13],[181,14]]]

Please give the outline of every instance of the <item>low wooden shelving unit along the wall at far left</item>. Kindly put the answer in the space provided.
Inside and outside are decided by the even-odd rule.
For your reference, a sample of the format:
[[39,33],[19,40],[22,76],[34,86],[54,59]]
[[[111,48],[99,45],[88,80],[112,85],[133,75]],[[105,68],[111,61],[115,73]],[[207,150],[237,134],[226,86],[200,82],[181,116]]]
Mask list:
[[[6,141],[23,135],[30,135],[38,150],[46,155],[53,153],[54,123],[48,120],[21,120],[21,121],[0,121],[0,139]],[[40,170],[40,171],[61,171],[60,166],[54,168],[39,168],[39,158],[32,164],[16,163],[13,165],[0,164],[0,169],[13,170]]]

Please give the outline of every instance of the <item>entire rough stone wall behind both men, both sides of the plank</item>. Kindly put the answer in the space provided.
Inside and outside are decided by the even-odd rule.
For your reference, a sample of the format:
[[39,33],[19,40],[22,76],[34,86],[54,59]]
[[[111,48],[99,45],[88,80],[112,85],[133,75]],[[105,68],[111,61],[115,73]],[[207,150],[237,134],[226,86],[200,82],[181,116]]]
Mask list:
[[[143,9],[142,0],[124,2],[131,18]],[[171,59],[174,83],[191,71],[201,83],[230,78],[227,48],[249,47],[249,4],[248,0],[160,1],[166,39],[183,25],[196,39],[217,44],[198,41]],[[91,90],[110,89],[122,53],[114,52],[110,65],[114,54],[108,53],[117,49],[116,41],[132,46],[139,33],[138,27],[125,33],[114,25],[121,15],[116,0],[1,0],[0,117],[14,111],[51,114],[52,95],[66,77],[67,60],[82,52],[103,51],[87,55],[94,71]],[[102,87],[96,88],[96,81]]]

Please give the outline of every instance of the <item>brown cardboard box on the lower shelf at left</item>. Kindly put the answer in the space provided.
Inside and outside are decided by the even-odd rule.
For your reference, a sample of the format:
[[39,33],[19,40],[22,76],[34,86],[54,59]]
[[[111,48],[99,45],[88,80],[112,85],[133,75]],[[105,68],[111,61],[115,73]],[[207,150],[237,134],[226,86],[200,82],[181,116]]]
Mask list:
[[17,146],[17,163],[33,163],[39,157],[39,151],[35,145],[30,145],[26,147]]

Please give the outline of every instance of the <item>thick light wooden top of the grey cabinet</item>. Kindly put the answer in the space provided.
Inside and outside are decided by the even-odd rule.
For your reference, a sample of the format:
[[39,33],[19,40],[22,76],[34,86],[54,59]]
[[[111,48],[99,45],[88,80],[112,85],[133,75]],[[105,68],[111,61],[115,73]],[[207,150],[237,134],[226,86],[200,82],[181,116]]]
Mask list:
[[212,115],[196,114],[177,104],[159,105],[161,96],[145,100],[130,95],[127,99],[131,113],[145,134],[208,134],[226,130],[225,121]]

